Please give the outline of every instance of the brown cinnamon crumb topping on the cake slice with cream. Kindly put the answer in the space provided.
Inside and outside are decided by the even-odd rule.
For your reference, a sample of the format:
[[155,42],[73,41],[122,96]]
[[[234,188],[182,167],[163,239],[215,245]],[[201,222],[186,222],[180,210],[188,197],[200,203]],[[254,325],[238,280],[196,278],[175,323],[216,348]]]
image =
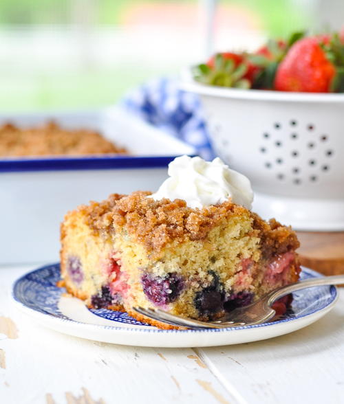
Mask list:
[[125,228],[148,251],[158,253],[173,240],[202,240],[208,232],[228,216],[247,216],[261,237],[263,254],[283,254],[297,249],[299,241],[291,227],[281,225],[275,219],[263,221],[257,214],[241,205],[226,201],[203,209],[192,209],[181,199],[155,201],[151,192],[133,192],[129,195],[111,194],[103,202],[80,206],[87,224],[94,232],[114,232]]

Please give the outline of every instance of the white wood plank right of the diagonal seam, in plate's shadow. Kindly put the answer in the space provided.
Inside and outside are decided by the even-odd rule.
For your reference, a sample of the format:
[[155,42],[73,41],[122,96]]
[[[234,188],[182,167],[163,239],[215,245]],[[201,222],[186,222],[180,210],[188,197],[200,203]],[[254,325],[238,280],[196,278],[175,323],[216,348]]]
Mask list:
[[266,341],[202,348],[213,374],[248,403],[343,403],[344,290],[319,322]]

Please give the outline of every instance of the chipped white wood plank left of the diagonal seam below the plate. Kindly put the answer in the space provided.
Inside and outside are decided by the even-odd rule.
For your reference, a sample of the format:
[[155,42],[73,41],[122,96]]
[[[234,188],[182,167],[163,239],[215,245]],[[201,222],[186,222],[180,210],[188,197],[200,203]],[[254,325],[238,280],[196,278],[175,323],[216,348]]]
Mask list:
[[[69,337],[36,326],[8,298],[23,269],[0,269],[0,402],[6,404],[230,403],[233,397],[192,349],[136,348]],[[6,320],[8,324],[8,320]]]

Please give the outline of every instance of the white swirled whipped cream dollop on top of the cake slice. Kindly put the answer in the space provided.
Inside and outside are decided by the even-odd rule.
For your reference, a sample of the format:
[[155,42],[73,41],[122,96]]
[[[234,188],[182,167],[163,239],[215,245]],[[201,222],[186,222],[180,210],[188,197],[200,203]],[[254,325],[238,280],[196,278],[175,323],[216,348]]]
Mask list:
[[253,192],[249,179],[230,170],[219,157],[213,161],[186,155],[176,157],[168,172],[170,177],[151,195],[155,201],[184,199],[189,207],[202,208],[232,199],[233,203],[251,209]]

